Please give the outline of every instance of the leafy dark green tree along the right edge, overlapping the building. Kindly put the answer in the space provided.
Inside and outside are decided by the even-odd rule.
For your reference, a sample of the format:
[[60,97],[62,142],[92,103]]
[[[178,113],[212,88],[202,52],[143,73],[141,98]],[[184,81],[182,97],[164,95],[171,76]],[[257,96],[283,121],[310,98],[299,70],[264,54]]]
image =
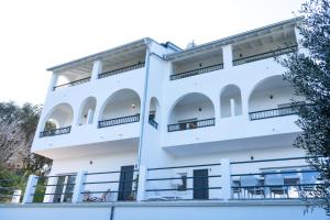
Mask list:
[[308,103],[298,108],[302,133],[295,140],[295,146],[306,151],[308,163],[320,173],[322,185],[312,194],[314,204],[321,205],[330,215],[330,1],[309,0],[300,13],[305,19],[298,25],[302,36],[299,43],[307,53],[296,53],[279,62],[287,69],[284,78]]

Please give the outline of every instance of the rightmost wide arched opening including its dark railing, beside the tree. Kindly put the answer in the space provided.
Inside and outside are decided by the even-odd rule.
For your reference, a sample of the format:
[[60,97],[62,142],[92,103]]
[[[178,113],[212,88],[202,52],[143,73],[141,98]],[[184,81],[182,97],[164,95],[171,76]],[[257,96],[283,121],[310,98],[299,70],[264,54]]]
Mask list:
[[290,82],[283,76],[271,76],[261,80],[249,97],[251,120],[283,117],[296,113],[292,100],[304,102],[304,97],[295,96]]

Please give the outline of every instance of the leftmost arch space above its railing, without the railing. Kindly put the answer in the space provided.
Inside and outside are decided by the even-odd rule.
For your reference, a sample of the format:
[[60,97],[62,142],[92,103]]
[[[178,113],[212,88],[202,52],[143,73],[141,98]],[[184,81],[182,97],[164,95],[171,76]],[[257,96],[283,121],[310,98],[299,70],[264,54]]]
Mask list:
[[73,123],[73,119],[74,119],[73,107],[68,103],[59,103],[55,106],[47,113],[47,116],[44,119],[42,128],[43,130],[52,130],[52,129],[70,127]]

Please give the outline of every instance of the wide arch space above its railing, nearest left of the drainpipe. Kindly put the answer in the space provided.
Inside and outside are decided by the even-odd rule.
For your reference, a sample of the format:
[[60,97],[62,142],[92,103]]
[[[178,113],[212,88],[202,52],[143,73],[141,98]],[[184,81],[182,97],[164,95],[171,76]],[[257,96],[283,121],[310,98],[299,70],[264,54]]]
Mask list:
[[113,92],[103,103],[99,121],[140,114],[141,100],[136,91],[120,89]]

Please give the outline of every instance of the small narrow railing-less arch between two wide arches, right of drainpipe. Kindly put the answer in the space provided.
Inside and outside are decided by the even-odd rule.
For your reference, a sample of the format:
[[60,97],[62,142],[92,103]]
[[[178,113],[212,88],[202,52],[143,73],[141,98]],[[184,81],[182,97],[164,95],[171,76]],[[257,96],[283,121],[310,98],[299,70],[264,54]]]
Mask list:
[[221,118],[242,114],[241,90],[235,85],[228,85],[220,95]]

